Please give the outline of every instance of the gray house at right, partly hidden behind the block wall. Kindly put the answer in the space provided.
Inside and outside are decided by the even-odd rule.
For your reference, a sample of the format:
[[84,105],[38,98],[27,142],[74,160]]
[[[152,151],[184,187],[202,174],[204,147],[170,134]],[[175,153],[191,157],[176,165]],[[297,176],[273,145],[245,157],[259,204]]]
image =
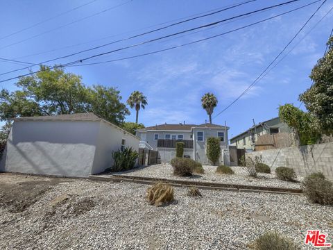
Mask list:
[[247,131],[240,133],[230,139],[230,145],[236,146],[237,149],[255,149],[255,142],[260,135],[273,135],[277,133],[291,133],[291,128],[284,122],[280,121],[279,117],[269,119],[264,122],[259,122],[255,126],[248,128]]

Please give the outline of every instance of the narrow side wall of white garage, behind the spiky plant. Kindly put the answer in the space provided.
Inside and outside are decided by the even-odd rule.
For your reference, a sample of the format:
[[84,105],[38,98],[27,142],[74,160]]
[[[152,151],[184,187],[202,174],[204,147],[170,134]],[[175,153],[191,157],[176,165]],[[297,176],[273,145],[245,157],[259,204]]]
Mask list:
[[107,122],[101,121],[99,123],[99,135],[92,174],[101,173],[108,167],[112,167],[112,151],[117,151],[121,148],[122,139],[126,140],[126,147],[132,147],[136,151],[139,150],[139,138],[121,131]]

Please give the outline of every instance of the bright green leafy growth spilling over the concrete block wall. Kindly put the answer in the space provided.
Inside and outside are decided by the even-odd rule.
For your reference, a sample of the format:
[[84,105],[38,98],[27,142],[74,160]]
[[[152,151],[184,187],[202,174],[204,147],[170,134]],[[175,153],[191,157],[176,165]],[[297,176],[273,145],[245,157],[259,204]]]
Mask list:
[[314,115],[305,113],[292,104],[285,104],[279,108],[279,117],[282,122],[293,128],[301,145],[315,144],[321,139],[318,120]]

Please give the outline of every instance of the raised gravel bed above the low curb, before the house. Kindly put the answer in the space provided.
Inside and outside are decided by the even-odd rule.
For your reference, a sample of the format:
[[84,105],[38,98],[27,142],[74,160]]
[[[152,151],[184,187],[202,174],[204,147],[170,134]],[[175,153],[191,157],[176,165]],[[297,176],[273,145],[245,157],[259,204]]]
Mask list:
[[[231,167],[234,174],[216,174],[216,166],[203,166],[205,174],[194,174],[190,177],[179,177],[173,175],[171,165],[151,165],[142,167],[129,172],[119,172],[127,176],[144,176],[153,178],[173,178],[177,180],[189,181],[207,181],[228,184],[255,185],[275,188],[300,188],[299,182],[281,181],[275,177],[275,174],[258,174],[258,178],[249,177],[244,167]],[[302,181],[302,177],[298,177],[297,181]]]

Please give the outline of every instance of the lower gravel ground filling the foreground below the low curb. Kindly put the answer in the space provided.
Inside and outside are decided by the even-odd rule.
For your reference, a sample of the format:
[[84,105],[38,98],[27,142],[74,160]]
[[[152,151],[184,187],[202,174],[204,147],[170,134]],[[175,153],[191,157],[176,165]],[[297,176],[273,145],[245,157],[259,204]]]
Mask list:
[[[20,188],[50,178],[1,174],[0,183]],[[44,185],[45,186],[45,185]],[[0,249],[247,249],[265,231],[279,231],[302,249],[307,229],[321,229],[333,242],[333,207],[291,194],[200,190],[155,207],[147,185],[76,179],[52,183],[23,212],[0,203]],[[12,197],[12,199],[17,199]]]

